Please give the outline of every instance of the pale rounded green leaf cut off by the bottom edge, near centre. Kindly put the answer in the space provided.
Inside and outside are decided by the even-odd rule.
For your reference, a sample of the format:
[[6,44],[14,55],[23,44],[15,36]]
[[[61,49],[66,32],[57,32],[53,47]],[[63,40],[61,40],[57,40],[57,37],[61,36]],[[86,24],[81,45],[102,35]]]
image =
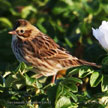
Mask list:
[[64,106],[67,106],[68,108],[68,106],[70,105],[71,105],[70,99],[63,96],[57,101],[55,108],[64,108]]

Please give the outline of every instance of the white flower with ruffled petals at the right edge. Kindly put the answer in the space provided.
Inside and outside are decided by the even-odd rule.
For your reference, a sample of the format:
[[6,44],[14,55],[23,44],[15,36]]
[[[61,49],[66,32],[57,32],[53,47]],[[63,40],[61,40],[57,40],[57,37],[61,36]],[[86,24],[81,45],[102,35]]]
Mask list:
[[108,22],[102,21],[99,29],[92,28],[92,30],[94,37],[99,41],[105,50],[108,50]]

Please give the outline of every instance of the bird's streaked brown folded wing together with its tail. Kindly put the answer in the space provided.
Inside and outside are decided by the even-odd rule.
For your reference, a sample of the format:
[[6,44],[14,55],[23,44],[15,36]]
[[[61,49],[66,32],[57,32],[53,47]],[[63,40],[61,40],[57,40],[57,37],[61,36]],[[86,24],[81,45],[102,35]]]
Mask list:
[[56,44],[47,35],[38,35],[31,40],[24,41],[22,48],[22,55],[24,59],[28,59],[32,63],[33,58],[43,60],[54,60],[63,67],[72,67],[79,65],[91,65],[98,67],[95,63],[86,62],[70,55],[64,48]]

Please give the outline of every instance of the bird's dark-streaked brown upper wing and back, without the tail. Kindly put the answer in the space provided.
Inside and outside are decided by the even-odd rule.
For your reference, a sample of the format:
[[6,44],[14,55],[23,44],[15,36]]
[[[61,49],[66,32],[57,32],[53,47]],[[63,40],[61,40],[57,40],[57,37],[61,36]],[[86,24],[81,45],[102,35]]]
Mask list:
[[29,50],[33,56],[40,59],[67,59],[72,57],[64,48],[61,48],[47,35],[39,35],[29,40]]

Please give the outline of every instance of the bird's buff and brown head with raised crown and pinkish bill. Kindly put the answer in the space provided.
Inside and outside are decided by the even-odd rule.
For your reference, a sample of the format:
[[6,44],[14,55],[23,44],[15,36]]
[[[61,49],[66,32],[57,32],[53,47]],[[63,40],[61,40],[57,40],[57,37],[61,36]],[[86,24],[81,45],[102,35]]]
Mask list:
[[30,22],[24,19],[19,19],[17,20],[14,29],[8,33],[21,39],[25,39],[36,35],[38,32],[39,30],[30,24]]

